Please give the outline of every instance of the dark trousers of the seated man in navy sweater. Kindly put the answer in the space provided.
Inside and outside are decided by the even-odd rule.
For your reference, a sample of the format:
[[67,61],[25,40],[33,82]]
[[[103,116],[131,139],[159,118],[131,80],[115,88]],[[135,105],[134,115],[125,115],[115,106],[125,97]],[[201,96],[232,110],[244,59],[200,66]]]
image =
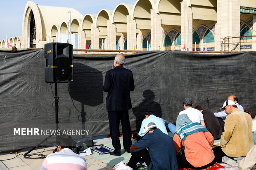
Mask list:
[[151,158],[149,155],[149,151],[147,149],[142,149],[141,151],[133,152],[133,155],[130,157],[130,160],[127,163],[127,165],[130,168],[135,168],[135,165],[137,164],[137,162],[140,161],[140,157],[142,157],[146,165],[149,166]]

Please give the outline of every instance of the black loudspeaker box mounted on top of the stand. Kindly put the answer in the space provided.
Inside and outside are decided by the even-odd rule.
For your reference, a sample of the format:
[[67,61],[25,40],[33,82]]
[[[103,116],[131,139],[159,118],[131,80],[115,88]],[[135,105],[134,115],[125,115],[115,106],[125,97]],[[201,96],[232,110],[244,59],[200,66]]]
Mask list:
[[45,44],[45,82],[73,81],[73,45],[60,42]]

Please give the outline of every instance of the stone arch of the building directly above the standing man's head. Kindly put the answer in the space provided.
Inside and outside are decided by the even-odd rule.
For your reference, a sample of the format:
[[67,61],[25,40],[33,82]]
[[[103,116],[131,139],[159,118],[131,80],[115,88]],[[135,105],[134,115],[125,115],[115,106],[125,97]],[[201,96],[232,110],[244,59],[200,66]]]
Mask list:
[[119,4],[116,6],[111,19],[116,26],[116,32],[127,33],[126,16],[131,14],[132,8],[133,5],[128,4]]

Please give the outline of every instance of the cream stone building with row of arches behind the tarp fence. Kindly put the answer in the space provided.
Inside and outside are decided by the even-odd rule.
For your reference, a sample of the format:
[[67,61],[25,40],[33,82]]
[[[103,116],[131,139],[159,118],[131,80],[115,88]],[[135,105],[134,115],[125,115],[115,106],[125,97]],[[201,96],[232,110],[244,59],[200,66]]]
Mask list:
[[[72,8],[36,5],[28,1],[24,10],[22,37],[9,39],[10,46],[42,48],[48,42],[66,42],[71,12],[71,43],[84,49],[184,50],[207,49],[256,51],[255,0],[137,0],[119,4],[114,10],[83,16]],[[187,26],[188,21],[188,26]],[[188,33],[188,34],[187,34]],[[237,39],[224,37],[249,36]],[[223,44],[230,44],[225,46]],[[5,40],[0,47],[5,47]],[[103,45],[103,46],[102,46]],[[236,49],[237,50],[237,49]]]

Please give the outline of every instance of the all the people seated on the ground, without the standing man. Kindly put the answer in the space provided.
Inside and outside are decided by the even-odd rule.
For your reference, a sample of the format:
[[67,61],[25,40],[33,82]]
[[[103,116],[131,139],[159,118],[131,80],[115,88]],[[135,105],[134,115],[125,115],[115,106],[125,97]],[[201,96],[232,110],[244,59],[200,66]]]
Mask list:
[[[216,114],[200,105],[193,108],[191,98],[184,99],[185,110],[179,113],[176,126],[147,110],[137,142],[130,147],[131,157],[127,166],[134,169],[137,162],[143,159],[149,170],[178,170],[178,167],[204,169],[215,162],[250,170],[256,163],[252,119],[239,110],[237,104],[233,100],[223,103],[220,109],[227,114],[223,127]],[[174,137],[170,137],[167,130]],[[220,139],[220,146],[213,148],[215,139]],[[63,170],[67,166],[86,170],[85,159],[70,150],[71,141],[69,136],[60,137],[57,140],[59,152],[47,156],[41,170],[57,170],[56,167]],[[66,163],[63,163],[63,158],[67,158]],[[242,159],[239,165],[234,158]]]

